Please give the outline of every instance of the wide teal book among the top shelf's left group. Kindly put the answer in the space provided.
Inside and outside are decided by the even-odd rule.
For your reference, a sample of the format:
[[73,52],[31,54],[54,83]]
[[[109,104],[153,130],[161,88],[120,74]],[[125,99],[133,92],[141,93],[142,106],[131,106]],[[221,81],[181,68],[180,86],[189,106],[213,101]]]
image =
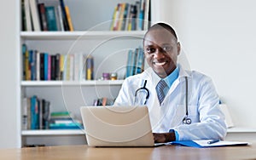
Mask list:
[[45,15],[47,20],[47,28],[48,31],[58,31],[57,20],[55,15],[55,7],[54,6],[46,6],[45,7]]

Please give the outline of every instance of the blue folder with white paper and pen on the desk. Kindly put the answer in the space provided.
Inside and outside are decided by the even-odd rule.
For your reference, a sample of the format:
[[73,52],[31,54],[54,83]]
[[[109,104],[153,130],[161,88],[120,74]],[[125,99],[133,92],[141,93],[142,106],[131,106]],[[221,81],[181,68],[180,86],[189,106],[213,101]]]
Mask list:
[[179,146],[191,146],[195,148],[206,148],[206,147],[216,147],[216,146],[247,146],[248,142],[245,141],[227,141],[227,140],[217,140],[216,143],[209,143],[212,140],[181,140],[172,141],[168,143],[169,145],[179,145]]

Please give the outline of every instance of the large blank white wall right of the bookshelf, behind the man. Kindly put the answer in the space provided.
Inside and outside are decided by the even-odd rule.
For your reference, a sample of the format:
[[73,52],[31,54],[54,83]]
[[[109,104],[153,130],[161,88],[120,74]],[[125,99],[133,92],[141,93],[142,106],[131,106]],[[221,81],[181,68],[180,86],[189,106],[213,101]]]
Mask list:
[[153,21],[176,29],[191,68],[212,77],[235,125],[256,129],[256,1],[153,0],[152,6]]

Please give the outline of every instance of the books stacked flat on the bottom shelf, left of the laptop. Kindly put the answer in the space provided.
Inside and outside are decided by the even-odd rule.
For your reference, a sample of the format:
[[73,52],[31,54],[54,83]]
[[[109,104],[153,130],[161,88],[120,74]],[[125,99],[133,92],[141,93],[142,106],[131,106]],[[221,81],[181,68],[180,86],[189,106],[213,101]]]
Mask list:
[[81,129],[82,123],[75,119],[69,111],[50,113],[49,129]]

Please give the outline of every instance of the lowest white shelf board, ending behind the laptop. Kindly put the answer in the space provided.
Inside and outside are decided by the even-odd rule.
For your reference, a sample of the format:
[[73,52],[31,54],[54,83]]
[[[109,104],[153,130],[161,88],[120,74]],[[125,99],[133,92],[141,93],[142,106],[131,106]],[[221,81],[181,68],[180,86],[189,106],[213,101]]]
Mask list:
[[34,135],[83,135],[81,129],[45,129],[45,130],[23,130],[21,134],[24,136]]

